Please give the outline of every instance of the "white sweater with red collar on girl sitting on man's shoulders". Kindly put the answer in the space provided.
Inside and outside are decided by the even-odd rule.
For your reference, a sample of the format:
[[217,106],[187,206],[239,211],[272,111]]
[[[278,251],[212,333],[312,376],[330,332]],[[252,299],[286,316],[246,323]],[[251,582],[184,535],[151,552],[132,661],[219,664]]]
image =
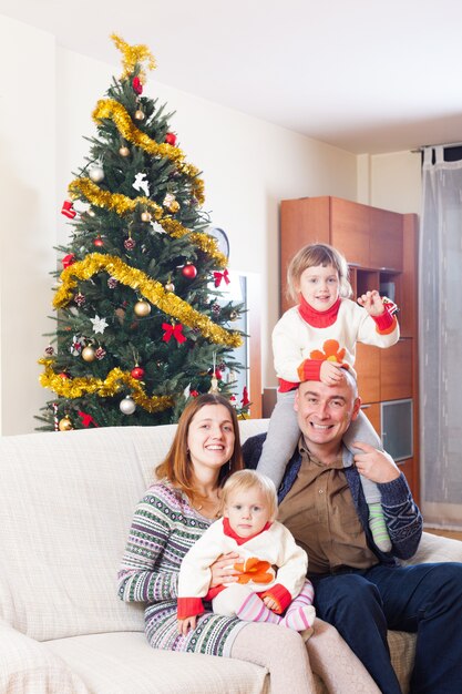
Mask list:
[[291,390],[300,381],[319,380],[322,361],[330,360],[349,368],[353,376],[356,344],[391,347],[400,331],[392,315],[394,304],[386,304],[381,316],[339,298],[326,312],[314,309],[301,297],[299,306],[289,308],[273,330],[273,354],[279,389]]

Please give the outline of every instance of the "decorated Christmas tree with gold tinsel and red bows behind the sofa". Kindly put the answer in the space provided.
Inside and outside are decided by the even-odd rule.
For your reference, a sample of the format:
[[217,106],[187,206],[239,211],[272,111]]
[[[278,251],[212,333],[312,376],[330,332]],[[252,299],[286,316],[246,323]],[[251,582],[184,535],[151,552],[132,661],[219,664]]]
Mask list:
[[203,181],[172,113],[142,95],[148,49],[112,39],[123,74],[96,104],[97,134],[62,207],[72,234],[58,248],[57,330],[40,359],[55,395],[40,428],[173,422],[207,391],[245,414],[246,391],[233,394],[243,306],[223,298],[227,258],[206,232]]

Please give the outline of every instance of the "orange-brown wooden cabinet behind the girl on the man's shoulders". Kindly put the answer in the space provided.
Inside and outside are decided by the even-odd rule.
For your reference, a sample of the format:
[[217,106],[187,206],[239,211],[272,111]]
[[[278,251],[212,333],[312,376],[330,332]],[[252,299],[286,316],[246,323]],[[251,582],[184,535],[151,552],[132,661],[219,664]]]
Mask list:
[[353,298],[379,289],[399,308],[401,338],[380,349],[358,344],[358,372],[362,408],[382,435],[381,406],[412,401],[412,456],[399,462],[419,500],[419,388],[418,388],[418,228],[417,215],[398,214],[339,197],[283,201],[280,208],[281,313],[290,307],[286,296],[287,265],[310,243],[329,243],[347,258]]

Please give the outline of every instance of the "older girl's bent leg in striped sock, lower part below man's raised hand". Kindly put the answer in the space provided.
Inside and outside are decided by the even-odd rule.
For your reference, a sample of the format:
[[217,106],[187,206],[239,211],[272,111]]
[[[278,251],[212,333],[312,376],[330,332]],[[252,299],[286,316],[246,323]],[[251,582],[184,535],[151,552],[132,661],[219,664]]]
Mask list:
[[[369,443],[369,446],[373,446],[373,448],[383,450],[383,446],[378,433],[362,411],[359,412],[358,419],[351,422],[343,437],[345,445],[353,455],[361,452],[358,448],[353,447],[355,441]],[[362,491],[365,492],[366,501],[369,507],[369,528],[372,532],[373,541],[379,550],[382,550],[382,552],[390,552],[391,542],[383,518],[379,488],[376,482],[366,479],[362,474],[360,477]]]

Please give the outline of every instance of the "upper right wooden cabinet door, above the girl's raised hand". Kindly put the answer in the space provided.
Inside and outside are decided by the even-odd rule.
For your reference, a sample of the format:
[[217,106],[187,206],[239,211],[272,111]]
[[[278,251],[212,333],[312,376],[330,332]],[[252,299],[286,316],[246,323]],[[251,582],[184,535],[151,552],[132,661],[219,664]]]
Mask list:
[[371,267],[402,271],[402,215],[369,207],[369,218]]

